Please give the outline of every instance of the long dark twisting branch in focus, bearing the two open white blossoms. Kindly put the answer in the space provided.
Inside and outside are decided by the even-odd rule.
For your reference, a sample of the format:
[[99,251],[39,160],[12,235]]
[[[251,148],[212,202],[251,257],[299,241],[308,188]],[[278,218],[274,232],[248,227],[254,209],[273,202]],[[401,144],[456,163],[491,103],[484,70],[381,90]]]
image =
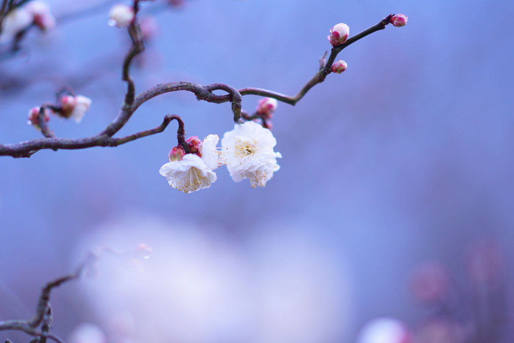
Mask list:
[[[53,132],[49,130],[49,128],[44,124],[44,120],[41,120],[42,114],[40,113],[40,123],[43,124],[41,125],[41,128],[45,138],[33,139],[29,141],[20,142],[17,144],[0,144],[0,156],[12,156],[15,158],[19,158],[30,157],[31,155],[33,155],[41,149],[84,149],[94,146],[118,146],[142,137],[157,134],[159,132],[162,132],[168,126],[168,124],[173,118],[171,118],[170,116],[166,116],[162,124],[154,129],[137,132],[136,134],[126,136],[123,138],[113,138],[116,132],[118,132],[128,122],[128,120],[130,120],[133,113],[141,104],[162,93],[173,92],[178,90],[186,90],[193,92],[198,100],[204,100],[207,102],[218,104],[225,103],[227,101],[232,102],[233,118],[234,122],[236,123],[241,120],[241,102],[242,96],[245,95],[252,94],[257,96],[269,97],[290,105],[295,105],[298,101],[300,101],[300,99],[303,98],[303,96],[307,93],[307,91],[310,88],[314,87],[318,83],[323,82],[326,78],[326,75],[332,72],[332,64],[334,63],[338,53],[341,52],[341,50],[373,32],[383,30],[386,27],[386,25],[389,24],[389,20],[393,16],[391,14],[383,18],[378,24],[349,38],[345,43],[332,48],[332,51],[326,62],[326,55],[324,55],[320,59],[320,63],[324,63],[324,66],[320,66],[319,71],[314,75],[314,77],[310,79],[294,97],[289,97],[278,92],[260,88],[243,88],[237,90],[234,87],[223,83],[214,83],[204,86],[192,82],[172,82],[166,84],[159,84],[149,90],[142,92],[141,94],[139,94],[139,96],[135,97],[135,85],[134,81],[130,77],[129,71],[135,56],[144,50],[142,36],[139,24],[137,23],[136,15],[138,11],[139,1],[140,0],[134,0],[134,20],[128,26],[128,33],[132,40],[132,46],[125,55],[122,67],[123,81],[127,82],[125,102],[123,103],[118,116],[111,122],[111,124],[109,124],[104,130],[102,130],[99,134],[95,136],[89,136],[79,139],[57,138],[55,137],[55,135],[53,135]],[[217,95],[213,93],[214,90],[223,90],[228,94]],[[245,113],[244,118],[250,117]]]

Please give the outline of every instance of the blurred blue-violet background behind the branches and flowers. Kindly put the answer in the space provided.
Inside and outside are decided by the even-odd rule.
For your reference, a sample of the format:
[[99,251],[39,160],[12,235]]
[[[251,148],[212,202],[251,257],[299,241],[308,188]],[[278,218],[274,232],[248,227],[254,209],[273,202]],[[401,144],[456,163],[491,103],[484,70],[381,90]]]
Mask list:
[[[27,112],[62,86],[93,104],[80,125],[53,118],[60,137],[96,134],[123,100],[130,41],[106,24],[112,2],[49,3],[57,27],[0,62],[2,143],[40,137]],[[52,295],[53,332],[72,343],[511,342],[512,2],[156,0],[142,6],[157,31],[137,91],[296,94],[333,25],[356,34],[390,13],[408,25],[348,47],[343,74],[279,104],[283,158],[265,188],[225,168],[209,189],[170,188],[158,170],[173,122],[117,148],[0,158],[0,319],[31,317],[41,286],[95,252],[94,270]],[[200,138],[233,128],[230,104],[175,92],[120,135],[167,113]]]

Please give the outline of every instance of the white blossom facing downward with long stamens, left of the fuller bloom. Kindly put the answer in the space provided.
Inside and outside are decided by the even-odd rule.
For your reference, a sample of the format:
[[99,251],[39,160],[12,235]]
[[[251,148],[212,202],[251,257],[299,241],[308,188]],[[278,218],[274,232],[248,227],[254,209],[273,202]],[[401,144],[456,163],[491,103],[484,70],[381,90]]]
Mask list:
[[160,175],[166,177],[170,186],[184,193],[209,188],[216,181],[213,170],[223,164],[216,149],[218,141],[217,135],[207,136],[198,147],[201,157],[196,154],[170,154],[170,162],[160,168]]

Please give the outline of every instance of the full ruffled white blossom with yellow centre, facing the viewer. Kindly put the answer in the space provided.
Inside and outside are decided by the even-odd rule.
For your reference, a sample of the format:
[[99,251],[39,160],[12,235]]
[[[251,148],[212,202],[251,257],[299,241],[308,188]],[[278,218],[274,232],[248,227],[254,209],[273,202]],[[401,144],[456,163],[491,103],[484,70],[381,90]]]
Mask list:
[[276,144],[271,131],[255,122],[235,124],[222,139],[222,154],[232,179],[249,179],[252,187],[265,186],[280,169],[277,158],[282,155],[273,151]]

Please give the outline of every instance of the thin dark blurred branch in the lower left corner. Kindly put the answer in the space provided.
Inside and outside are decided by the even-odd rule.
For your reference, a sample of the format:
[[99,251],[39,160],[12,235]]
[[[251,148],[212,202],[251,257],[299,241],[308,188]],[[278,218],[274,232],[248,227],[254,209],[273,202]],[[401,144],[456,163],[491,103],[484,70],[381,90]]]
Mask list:
[[[0,331],[15,330],[22,331],[33,337],[41,337],[39,342],[44,343],[46,338],[50,338],[57,343],[64,343],[64,341],[57,335],[48,332],[51,328],[52,310],[50,306],[50,293],[53,288],[59,287],[61,284],[75,280],[82,275],[84,269],[96,258],[95,255],[89,254],[84,262],[81,263],[75,273],[57,278],[48,282],[41,290],[38,305],[34,316],[28,320],[15,319],[15,320],[0,320]],[[41,326],[41,331],[37,330]]]

